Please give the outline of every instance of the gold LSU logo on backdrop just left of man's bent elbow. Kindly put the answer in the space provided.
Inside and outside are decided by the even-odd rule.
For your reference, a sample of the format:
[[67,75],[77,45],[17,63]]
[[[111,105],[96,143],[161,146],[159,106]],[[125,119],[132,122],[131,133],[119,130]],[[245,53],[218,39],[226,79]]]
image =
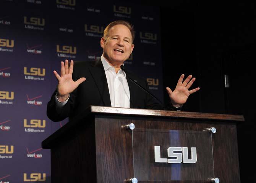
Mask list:
[[[31,119],[28,121],[27,119],[24,119],[24,128],[25,132],[45,132],[44,129],[46,126],[46,121],[41,119]],[[36,128],[36,129],[35,129]]]

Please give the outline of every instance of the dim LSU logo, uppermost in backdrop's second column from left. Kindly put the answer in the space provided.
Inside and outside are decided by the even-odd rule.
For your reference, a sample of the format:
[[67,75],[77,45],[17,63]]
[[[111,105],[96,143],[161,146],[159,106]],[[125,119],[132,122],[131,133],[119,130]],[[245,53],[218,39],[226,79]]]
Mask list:
[[25,29],[44,30],[45,19],[24,16]]

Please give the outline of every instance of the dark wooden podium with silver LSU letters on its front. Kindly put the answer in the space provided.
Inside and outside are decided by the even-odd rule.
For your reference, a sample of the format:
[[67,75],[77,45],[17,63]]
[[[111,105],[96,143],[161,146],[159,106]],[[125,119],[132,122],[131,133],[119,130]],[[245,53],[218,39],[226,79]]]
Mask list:
[[51,149],[52,183],[240,183],[236,123],[242,121],[239,115],[91,106],[42,148]]

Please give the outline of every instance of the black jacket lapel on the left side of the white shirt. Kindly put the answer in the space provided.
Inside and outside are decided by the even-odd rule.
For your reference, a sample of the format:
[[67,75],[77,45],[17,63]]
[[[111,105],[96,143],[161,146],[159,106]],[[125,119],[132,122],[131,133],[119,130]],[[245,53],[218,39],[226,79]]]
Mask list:
[[96,83],[97,88],[99,89],[105,106],[111,107],[109,87],[101,60],[97,59],[94,63],[92,63],[92,67],[89,67],[89,71],[94,79],[94,82]]

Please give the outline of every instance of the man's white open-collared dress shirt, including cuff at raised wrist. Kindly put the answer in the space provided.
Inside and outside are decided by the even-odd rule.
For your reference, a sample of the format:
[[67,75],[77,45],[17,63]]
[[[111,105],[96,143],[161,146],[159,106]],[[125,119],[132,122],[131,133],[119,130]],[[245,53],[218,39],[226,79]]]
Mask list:
[[[115,72],[115,68],[107,62],[107,60],[103,57],[100,57],[101,62],[103,64],[107,84],[109,87],[109,95],[112,107],[125,107],[130,108],[130,90],[126,80],[126,74],[121,69],[118,72]],[[86,82],[86,81],[84,81]],[[64,102],[60,102],[57,98],[56,94],[56,107],[57,109],[61,108],[68,102],[68,99]]]

